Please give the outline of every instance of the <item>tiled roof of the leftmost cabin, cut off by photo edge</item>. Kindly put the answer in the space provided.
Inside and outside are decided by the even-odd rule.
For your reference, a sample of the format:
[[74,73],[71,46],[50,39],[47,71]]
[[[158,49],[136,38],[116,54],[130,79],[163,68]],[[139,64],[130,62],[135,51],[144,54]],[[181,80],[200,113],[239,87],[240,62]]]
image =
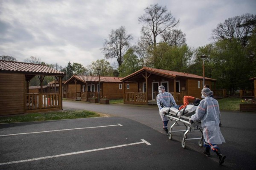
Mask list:
[[0,60],[0,72],[4,71],[31,74],[66,75],[66,73],[49,68],[46,65]]

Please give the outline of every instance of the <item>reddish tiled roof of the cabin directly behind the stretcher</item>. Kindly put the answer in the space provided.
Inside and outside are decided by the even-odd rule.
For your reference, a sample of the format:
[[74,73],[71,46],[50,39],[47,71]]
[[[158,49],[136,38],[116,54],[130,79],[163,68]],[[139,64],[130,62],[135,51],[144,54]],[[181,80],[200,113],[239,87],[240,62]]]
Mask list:
[[[203,79],[202,76],[198,76],[198,75],[195,75],[195,74],[182,73],[182,72],[169,71],[169,70],[162,70],[162,69],[158,69],[158,68],[143,67],[142,69],[134,72],[133,74],[130,74],[130,75],[124,77],[121,80],[124,81],[125,79],[133,77],[134,75],[136,75],[136,74],[138,74],[142,71],[149,71],[149,72],[152,72],[152,73],[162,74],[162,75],[173,77],[173,78],[175,78],[175,77],[186,77],[186,78]],[[204,78],[207,79],[207,80],[216,81],[215,79],[211,79],[211,78],[207,78],[207,77],[204,77]]]

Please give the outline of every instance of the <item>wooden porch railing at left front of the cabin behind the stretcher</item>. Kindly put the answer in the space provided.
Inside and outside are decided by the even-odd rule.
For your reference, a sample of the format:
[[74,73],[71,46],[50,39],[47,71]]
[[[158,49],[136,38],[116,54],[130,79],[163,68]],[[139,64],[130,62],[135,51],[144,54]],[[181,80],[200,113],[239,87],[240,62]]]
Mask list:
[[147,104],[146,93],[130,92],[124,95],[124,104]]

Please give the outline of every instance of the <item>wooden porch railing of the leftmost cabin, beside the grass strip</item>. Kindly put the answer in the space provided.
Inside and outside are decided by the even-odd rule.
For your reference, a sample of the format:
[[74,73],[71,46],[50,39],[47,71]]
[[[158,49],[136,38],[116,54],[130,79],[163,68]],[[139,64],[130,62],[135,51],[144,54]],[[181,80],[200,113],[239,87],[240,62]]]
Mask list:
[[58,108],[60,107],[60,94],[26,94],[26,110]]

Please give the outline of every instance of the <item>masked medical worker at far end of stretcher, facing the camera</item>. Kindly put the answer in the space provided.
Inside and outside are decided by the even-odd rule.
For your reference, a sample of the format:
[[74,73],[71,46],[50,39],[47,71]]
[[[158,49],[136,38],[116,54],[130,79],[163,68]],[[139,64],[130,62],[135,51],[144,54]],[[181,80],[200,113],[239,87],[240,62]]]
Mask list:
[[[175,99],[173,98],[172,94],[168,93],[165,91],[165,88],[163,85],[160,85],[158,87],[158,92],[159,94],[157,95],[157,106],[159,108],[159,114],[162,118],[163,121],[163,130],[166,131],[166,135],[168,135],[168,118],[166,116],[164,116],[162,114],[162,112],[160,112],[160,110],[163,108],[163,106],[165,107],[171,107],[172,105],[176,105]],[[162,106],[161,106],[161,102],[162,102]]]

